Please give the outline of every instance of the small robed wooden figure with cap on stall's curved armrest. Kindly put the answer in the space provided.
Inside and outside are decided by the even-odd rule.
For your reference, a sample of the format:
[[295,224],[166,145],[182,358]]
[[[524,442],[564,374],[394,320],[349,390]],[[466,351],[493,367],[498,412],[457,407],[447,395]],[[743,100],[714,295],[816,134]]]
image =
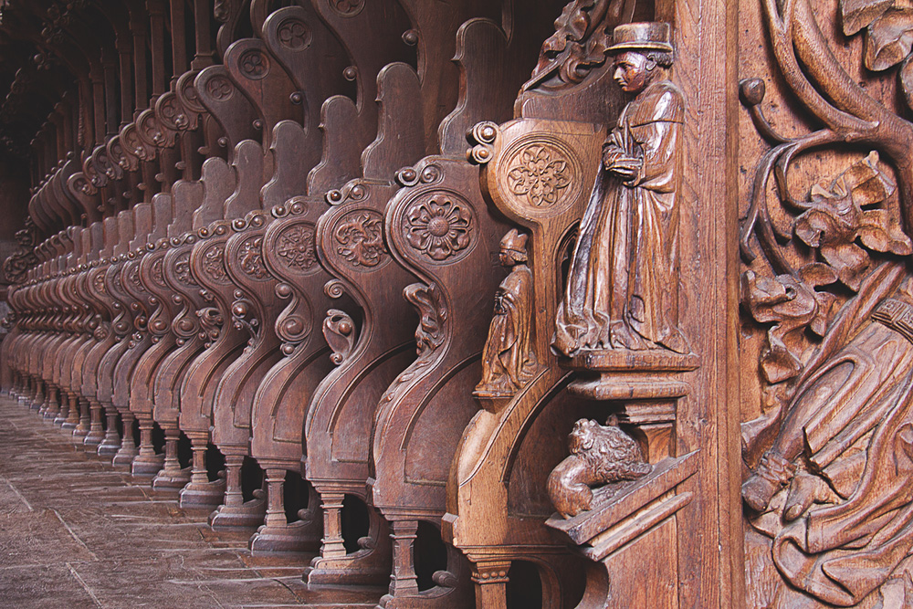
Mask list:
[[495,314],[482,352],[482,380],[476,395],[516,394],[539,367],[532,351],[532,272],[527,266],[528,236],[511,229],[501,239],[500,261],[510,274],[495,293]]

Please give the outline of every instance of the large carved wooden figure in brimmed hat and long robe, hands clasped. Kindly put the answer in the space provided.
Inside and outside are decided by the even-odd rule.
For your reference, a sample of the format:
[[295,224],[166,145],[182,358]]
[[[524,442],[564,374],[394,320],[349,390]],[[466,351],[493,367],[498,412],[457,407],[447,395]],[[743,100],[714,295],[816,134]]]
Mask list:
[[614,79],[635,96],[603,145],[554,347],[687,353],[678,330],[678,196],[685,100],[668,80],[665,23],[618,26]]

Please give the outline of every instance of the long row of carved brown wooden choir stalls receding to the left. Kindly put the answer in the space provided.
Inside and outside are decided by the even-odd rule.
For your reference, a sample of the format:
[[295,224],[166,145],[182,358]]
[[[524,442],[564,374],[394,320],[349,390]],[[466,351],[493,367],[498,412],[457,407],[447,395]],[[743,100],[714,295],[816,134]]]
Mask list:
[[[49,110],[4,266],[3,390],[251,552],[300,557],[315,588],[373,586],[387,609],[671,607],[680,580],[697,598],[702,546],[680,540],[715,525],[692,505],[711,456],[680,425],[708,416],[697,305],[678,306],[697,293],[678,258],[705,247],[678,72],[694,18],[8,0],[4,43],[34,51],[11,95]],[[638,53],[662,104],[615,82]],[[616,131],[654,127],[656,159],[613,144],[618,175],[666,182],[606,177]],[[613,188],[671,202],[673,245],[593,237]],[[569,346],[590,239],[636,250],[593,273],[665,300]],[[638,267],[655,246],[665,270]],[[665,583],[645,593],[651,554]]]

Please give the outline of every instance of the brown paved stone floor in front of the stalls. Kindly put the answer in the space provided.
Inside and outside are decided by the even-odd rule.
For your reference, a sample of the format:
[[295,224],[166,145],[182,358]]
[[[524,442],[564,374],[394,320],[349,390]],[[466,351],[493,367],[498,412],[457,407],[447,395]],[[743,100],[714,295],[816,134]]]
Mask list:
[[0,397],[0,607],[373,607],[384,592],[308,590],[307,556],[251,556],[247,534],[205,520]]

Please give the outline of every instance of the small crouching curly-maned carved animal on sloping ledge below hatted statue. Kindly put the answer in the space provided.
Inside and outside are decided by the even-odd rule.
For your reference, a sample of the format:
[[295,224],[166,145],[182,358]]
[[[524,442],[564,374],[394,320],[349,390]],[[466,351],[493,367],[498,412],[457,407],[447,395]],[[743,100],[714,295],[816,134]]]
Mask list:
[[652,469],[640,446],[618,427],[614,415],[607,426],[581,419],[568,438],[571,456],[551,470],[548,483],[551,503],[564,518],[591,508],[592,485],[634,480]]

